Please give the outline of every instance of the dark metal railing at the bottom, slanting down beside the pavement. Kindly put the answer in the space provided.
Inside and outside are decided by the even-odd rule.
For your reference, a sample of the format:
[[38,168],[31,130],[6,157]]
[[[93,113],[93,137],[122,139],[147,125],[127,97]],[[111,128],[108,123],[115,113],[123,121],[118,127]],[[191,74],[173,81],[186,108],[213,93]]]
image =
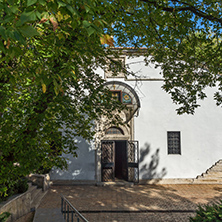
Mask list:
[[63,195],[61,195],[61,212],[67,222],[89,222]]

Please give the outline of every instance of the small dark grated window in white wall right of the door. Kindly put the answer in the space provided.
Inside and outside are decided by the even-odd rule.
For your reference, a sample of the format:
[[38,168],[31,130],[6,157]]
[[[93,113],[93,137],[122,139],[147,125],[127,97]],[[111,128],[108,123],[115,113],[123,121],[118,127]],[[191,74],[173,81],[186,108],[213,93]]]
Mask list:
[[180,132],[167,132],[168,154],[181,154]]

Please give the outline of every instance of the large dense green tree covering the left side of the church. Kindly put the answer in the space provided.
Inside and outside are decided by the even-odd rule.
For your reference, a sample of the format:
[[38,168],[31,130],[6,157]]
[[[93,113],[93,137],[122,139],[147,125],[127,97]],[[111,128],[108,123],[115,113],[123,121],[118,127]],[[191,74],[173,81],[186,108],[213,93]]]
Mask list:
[[[40,168],[66,166],[61,152],[76,155],[74,138],[92,139],[94,121],[102,115],[114,122],[118,120],[112,111],[119,104],[110,100],[110,93],[103,89],[104,80],[95,73],[98,66],[105,65],[109,54],[100,41],[109,43],[111,37],[103,36],[99,28],[93,34],[90,23],[84,20],[92,19],[91,10],[87,13],[81,3],[79,7],[83,9],[73,16],[77,5],[45,2],[45,7],[38,9],[31,3],[15,2],[17,11],[13,11],[21,14],[19,25],[13,26],[12,19],[8,22],[10,30],[6,28],[9,26],[2,26],[2,192],[18,176]],[[23,8],[24,4],[28,7]],[[13,7],[9,3],[5,6]],[[56,13],[52,16],[43,11],[41,19],[35,21],[38,10],[44,9]],[[7,16],[3,13],[2,24]]]

